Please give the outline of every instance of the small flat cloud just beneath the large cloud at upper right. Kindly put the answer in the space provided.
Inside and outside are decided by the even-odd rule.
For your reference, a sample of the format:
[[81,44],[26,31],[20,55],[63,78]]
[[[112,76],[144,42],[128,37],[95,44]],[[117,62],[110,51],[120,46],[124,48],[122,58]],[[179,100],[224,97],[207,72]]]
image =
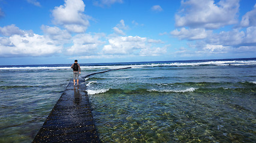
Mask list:
[[173,30],[171,32],[171,35],[179,38],[179,39],[189,39],[189,40],[198,40],[198,39],[204,39],[207,38],[207,35],[212,33],[211,30],[205,30],[205,29],[185,29],[182,27],[182,29]]

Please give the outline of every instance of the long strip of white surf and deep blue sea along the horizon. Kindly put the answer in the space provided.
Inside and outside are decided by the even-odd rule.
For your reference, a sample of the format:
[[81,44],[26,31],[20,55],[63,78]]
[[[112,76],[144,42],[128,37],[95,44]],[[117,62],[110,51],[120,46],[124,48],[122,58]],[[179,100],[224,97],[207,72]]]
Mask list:
[[[249,66],[256,65],[255,58],[234,60],[192,60],[192,61],[152,61],[132,63],[101,63],[80,64],[81,69],[120,69],[126,67],[183,67],[183,66]],[[46,65],[23,65],[23,66],[0,66],[0,70],[71,70],[71,64],[46,64]]]

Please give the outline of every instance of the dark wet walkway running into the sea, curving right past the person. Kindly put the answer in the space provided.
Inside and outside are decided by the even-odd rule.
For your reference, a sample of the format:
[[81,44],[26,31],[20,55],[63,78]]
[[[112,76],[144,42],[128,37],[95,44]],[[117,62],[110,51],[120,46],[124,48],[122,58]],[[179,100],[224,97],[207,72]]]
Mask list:
[[131,69],[131,67],[87,74],[79,79],[77,86],[73,85],[71,79],[32,143],[101,142],[86,92],[85,77],[122,69]]

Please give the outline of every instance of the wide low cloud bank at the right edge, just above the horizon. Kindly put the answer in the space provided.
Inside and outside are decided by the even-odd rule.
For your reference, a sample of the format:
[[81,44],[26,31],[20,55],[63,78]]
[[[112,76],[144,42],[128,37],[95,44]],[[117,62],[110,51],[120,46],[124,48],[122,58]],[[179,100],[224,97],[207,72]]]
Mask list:
[[[176,54],[187,57],[216,54],[251,54],[256,50],[256,27],[248,27],[245,31],[233,29],[219,33],[211,33],[206,39],[189,43],[196,51],[178,50]],[[246,56],[246,54],[245,54]]]

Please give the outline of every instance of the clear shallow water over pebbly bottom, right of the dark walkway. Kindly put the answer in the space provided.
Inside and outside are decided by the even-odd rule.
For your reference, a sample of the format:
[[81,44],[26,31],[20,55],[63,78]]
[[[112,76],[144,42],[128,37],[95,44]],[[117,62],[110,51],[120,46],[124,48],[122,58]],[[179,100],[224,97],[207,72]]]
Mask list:
[[254,142],[255,69],[146,67],[95,75],[88,93],[100,138]]

